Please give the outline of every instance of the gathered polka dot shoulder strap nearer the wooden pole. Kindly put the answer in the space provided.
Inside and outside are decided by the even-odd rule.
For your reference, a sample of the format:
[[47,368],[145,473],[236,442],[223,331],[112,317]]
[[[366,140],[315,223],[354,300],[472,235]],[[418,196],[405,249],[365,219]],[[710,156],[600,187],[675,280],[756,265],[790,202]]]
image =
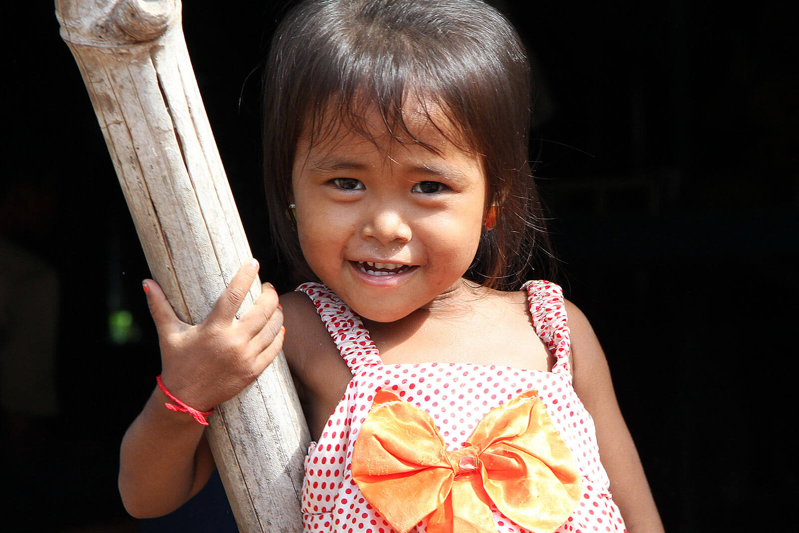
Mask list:
[[364,322],[344,300],[322,283],[304,283],[295,289],[312,300],[316,312],[355,376],[365,365],[383,364]]

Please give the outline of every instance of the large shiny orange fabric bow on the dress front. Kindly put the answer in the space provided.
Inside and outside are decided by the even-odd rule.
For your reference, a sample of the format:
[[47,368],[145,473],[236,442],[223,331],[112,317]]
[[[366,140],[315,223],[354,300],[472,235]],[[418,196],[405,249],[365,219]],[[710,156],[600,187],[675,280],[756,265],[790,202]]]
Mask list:
[[582,494],[577,463],[534,390],[492,409],[455,451],[426,412],[377,392],[352,477],[400,533],[428,515],[428,533],[495,533],[491,503],[519,526],[551,533]]

